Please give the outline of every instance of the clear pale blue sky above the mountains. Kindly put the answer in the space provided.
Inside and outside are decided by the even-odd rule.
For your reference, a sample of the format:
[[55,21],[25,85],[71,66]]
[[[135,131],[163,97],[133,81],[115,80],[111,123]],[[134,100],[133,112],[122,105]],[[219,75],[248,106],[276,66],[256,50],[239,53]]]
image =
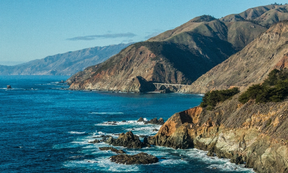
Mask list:
[[[268,0],[0,0],[0,62],[147,40],[196,16],[221,18]],[[287,3],[277,1],[277,3]]]

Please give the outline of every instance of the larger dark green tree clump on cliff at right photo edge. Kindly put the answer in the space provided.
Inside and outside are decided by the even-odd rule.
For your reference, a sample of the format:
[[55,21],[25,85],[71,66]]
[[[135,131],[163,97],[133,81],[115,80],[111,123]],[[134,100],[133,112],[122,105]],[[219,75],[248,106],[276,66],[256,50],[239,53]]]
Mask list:
[[280,102],[288,96],[288,69],[274,69],[262,84],[250,86],[238,101],[246,103],[253,99],[256,103]]

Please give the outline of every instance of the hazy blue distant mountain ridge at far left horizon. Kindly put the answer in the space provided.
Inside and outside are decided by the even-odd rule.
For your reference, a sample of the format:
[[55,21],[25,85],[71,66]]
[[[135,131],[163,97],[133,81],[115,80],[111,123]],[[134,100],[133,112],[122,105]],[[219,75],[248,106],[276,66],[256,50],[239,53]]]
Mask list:
[[0,75],[72,75],[107,60],[131,44],[91,47],[14,66],[0,65]]

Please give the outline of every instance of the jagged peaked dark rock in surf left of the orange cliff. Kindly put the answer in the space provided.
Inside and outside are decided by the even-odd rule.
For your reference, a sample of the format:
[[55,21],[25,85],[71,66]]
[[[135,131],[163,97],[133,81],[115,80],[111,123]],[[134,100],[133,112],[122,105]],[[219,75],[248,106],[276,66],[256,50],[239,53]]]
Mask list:
[[[144,137],[144,141],[145,141]],[[147,140],[147,138],[146,138]],[[141,142],[137,135],[134,135],[131,131],[125,133],[121,133],[117,139],[110,137],[105,143],[113,146],[122,146],[127,148],[143,148],[145,146],[150,146],[147,142]]]

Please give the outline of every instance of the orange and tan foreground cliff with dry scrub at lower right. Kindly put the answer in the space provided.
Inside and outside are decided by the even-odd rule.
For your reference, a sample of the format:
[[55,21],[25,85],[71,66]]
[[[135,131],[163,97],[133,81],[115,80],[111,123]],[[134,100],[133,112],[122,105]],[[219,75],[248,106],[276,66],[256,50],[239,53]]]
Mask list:
[[174,114],[151,145],[198,148],[259,173],[288,170],[288,99],[278,103],[238,102],[239,94],[214,110],[194,107]]

